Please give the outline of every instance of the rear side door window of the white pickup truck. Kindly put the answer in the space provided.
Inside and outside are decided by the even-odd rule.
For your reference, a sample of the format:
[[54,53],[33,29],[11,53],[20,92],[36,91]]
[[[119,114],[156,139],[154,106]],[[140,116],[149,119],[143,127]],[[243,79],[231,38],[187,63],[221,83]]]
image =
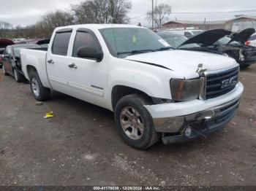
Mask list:
[[56,33],[52,47],[54,55],[67,55],[71,34],[72,31]]

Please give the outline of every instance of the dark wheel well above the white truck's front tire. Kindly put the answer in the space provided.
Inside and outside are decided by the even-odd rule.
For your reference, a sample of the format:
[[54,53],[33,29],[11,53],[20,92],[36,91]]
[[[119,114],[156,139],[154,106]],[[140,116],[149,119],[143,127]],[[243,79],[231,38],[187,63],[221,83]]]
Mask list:
[[134,93],[138,93],[142,95],[144,98],[148,99],[148,101],[152,101],[150,96],[148,96],[146,93],[143,93],[140,90],[137,90],[132,87],[123,86],[123,85],[116,85],[115,87],[113,87],[112,94],[111,94],[113,110],[115,110],[116,104],[121,98],[123,98],[126,95],[130,95]]

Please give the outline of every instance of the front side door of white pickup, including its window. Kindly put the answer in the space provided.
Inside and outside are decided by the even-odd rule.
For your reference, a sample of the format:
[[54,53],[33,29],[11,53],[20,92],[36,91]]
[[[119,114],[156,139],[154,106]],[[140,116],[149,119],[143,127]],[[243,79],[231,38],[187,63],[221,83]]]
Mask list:
[[107,87],[108,65],[106,56],[97,62],[87,58],[79,58],[80,47],[94,47],[102,52],[97,36],[86,28],[78,28],[73,36],[74,44],[69,57],[69,87],[70,93],[76,98],[91,104],[104,106],[104,95]]

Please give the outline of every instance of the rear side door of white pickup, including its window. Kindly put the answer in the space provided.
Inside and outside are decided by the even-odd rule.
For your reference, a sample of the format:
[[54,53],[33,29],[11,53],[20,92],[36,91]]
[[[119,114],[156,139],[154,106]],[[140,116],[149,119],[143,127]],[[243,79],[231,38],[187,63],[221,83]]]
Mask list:
[[48,79],[53,90],[68,93],[68,58],[69,41],[72,29],[56,31],[51,48],[48,49],[47,71]]

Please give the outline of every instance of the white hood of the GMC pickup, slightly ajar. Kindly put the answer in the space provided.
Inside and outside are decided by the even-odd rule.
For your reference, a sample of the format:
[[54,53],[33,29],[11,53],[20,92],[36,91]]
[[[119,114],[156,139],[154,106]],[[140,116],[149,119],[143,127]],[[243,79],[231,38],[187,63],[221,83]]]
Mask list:
[[198,77],[197,69],[200,63],[203,63],[203,69],[207,71],[225,69],[237,65],[233,58],[224,55],[188,50],[148,52],[130,55],[125,59],[169,69],[176,72],[177,76],[187,79]]

